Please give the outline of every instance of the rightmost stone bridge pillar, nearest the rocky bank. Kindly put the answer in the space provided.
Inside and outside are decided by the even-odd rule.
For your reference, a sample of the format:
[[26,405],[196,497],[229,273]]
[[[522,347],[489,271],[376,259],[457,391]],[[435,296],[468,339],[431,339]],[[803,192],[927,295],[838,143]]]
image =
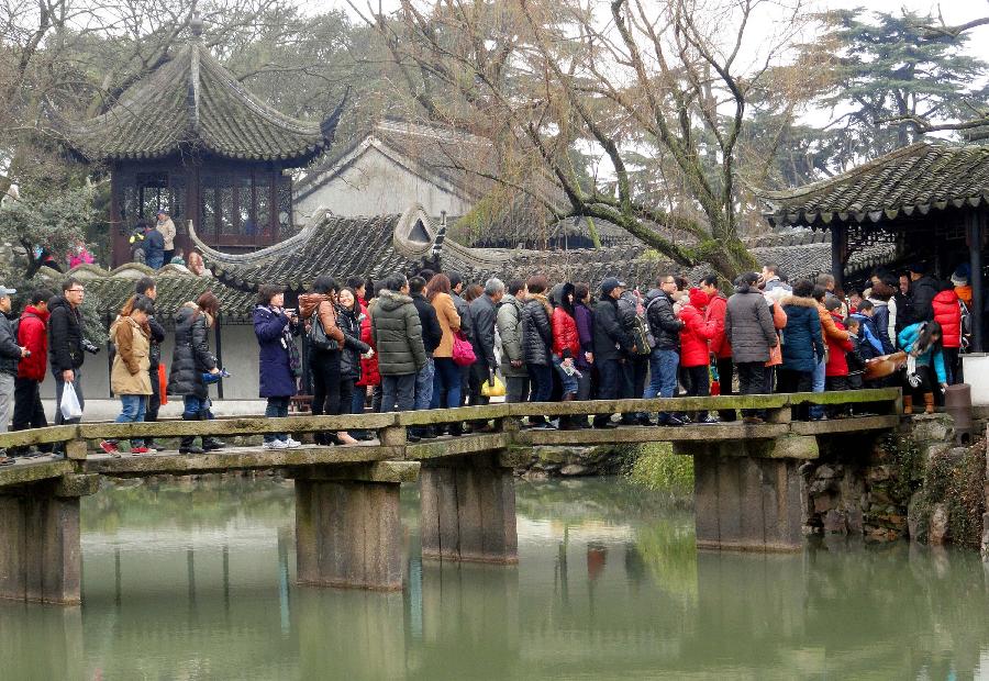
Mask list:
[[747,551],[802,548],[797,468],[803,459],[816,457],[814,437],[685,443],[675,444],[674,451],[693,455],[698,548]]

